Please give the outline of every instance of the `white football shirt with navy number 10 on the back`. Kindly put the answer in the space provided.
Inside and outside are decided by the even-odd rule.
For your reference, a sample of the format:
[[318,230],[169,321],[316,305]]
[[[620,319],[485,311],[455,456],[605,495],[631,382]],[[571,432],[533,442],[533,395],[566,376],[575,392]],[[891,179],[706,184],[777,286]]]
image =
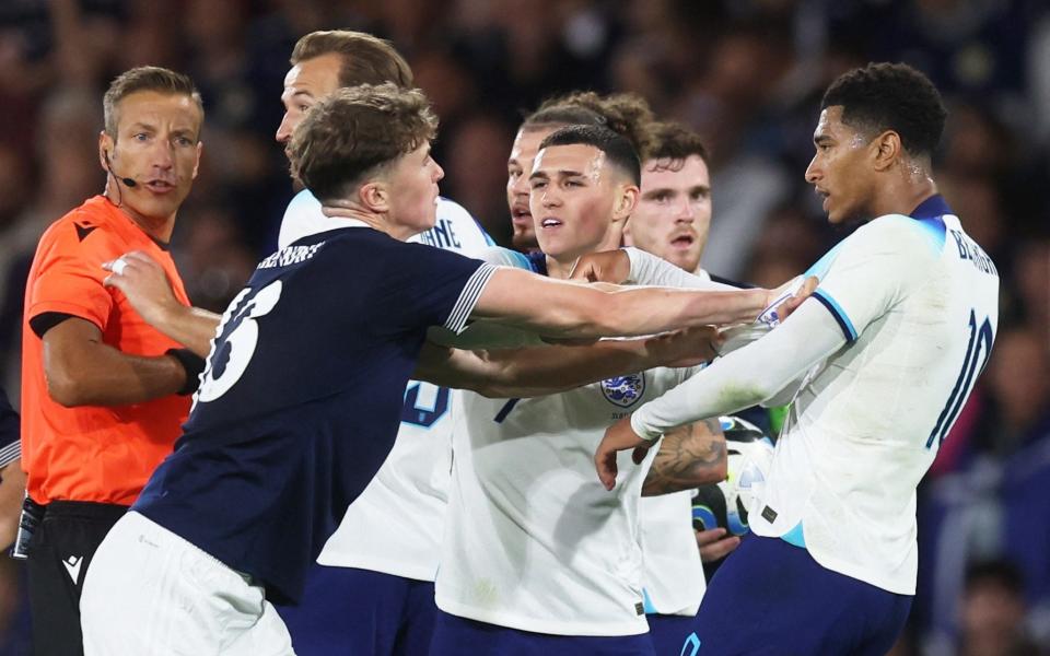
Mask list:
[[[797,394],[763,495],[749,508],[750,528],[804,544],[829,570],[913,595],[915,487],[988,362],[999,274],[940,196],[912,216],[885,215],[862,226],[809,273],[820,277],[814,298],[845,345],[815,363]],[[730,389],[732,363],[763,353],[798,325],[789,318],[730,354],[726,366],[715,363],[642,408],[632,418],[635,430],[734,409],[736,395],[719,395],[709,383]],[[792,356],[791,350],[780,355]],[[769,368],[783,370],[782,377],[797,370]],[[721,405],[682,407],[701,396]]]

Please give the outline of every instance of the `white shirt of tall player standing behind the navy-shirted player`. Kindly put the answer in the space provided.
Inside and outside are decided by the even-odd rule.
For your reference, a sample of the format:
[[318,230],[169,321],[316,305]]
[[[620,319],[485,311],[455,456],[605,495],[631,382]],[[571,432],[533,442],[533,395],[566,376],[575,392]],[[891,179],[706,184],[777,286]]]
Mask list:
[[[329,230],[331,219],[310,194],[295,196],[281,223],[280,247]],[[441,198],[438,222],[410,242],[477,257],[490,237],[459,204]],[[433,581],[444,531],[452,468],[452,396],[458,391],[411,380],[401,425],[380,471],[347,509],[317,558],[323,565],[359,567]]]

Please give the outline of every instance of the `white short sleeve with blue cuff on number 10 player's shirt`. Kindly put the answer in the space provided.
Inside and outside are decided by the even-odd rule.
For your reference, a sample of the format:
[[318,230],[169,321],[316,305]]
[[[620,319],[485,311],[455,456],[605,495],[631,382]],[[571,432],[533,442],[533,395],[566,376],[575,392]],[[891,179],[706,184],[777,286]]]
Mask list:
[[848,342],[907,296],[938,259],[944,241],[932,238],[926,223],[880,216],[836,248],[813,297],[831,313]]

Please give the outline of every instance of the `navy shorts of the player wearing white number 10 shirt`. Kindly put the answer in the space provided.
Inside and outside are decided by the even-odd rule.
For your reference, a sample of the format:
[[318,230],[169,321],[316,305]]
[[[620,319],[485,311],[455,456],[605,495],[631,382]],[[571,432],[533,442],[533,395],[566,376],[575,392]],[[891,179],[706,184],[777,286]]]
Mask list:
[[666,656],[883,656],[911,600],[827,570],[780,538],[751,535],[711,579],[693,633]]

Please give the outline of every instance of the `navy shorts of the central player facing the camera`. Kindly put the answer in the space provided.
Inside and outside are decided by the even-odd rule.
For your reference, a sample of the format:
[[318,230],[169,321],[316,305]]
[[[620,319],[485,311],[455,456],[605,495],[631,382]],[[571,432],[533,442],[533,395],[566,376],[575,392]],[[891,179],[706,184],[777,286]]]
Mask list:
[[430,656],[654,656],[648,633],[594,637],[497,626],[438,611]]

